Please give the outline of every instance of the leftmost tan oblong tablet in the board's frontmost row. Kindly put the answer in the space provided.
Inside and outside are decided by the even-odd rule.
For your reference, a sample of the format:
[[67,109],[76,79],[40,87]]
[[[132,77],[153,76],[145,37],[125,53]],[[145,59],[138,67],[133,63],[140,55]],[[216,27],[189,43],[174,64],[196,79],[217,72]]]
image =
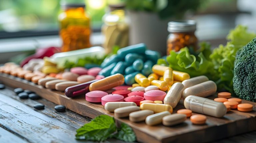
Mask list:
[[138,106],[126,106],[120,107],[114,110],[114,116],[118,118],[128,117],[131,112],[139,111],[140,107]]

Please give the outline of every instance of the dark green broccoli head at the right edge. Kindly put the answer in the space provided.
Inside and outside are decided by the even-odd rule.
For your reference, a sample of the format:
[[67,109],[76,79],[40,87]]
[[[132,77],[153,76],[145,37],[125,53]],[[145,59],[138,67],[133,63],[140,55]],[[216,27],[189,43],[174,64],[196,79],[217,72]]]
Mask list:
[[256,102],[256,38],[237,51],[233,82],[237,96]]

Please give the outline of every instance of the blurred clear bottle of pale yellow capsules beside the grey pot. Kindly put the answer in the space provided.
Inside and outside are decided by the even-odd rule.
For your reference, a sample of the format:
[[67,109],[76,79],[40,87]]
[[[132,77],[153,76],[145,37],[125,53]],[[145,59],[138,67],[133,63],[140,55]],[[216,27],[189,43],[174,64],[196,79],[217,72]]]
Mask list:
[[124,5],[109,5],[109,12],[103,16],[101,31],[105,36],[103,47],[107,53],[112,52],[113,46],[123,48],[128,46],[129,25],[125,15]]

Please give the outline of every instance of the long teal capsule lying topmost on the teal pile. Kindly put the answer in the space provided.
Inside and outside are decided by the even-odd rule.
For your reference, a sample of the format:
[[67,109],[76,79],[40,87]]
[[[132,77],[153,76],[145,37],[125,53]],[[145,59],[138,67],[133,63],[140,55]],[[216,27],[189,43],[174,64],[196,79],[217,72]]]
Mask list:
[[129,53],[145,54],[146,49],[146,45],[144,43],[140,43],[119,49],[117,51],[117,55],[120,57],[125,57]]

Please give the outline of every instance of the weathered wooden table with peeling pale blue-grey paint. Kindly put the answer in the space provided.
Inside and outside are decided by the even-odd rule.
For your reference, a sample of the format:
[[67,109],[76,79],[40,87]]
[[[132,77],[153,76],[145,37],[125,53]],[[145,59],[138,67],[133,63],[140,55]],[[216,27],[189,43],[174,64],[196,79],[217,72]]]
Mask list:
[[[43,103],[44,110],[36,110],[34,104]],[[91,118],[70,110],[56,112],[56,104],[46,99],[20,99],[13,88],[0,90],[0,143],[73,143],[76,129]],[[109,139],[106,142],[122,142]],[[256,131],[216,142],[256,142]]]

